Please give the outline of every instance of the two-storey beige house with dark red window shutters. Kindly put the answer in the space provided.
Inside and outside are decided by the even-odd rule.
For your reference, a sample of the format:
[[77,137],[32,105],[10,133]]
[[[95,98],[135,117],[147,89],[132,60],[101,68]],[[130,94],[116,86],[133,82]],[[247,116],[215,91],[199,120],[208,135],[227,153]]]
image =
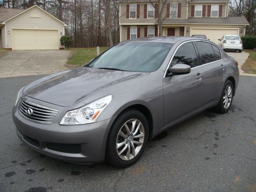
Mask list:
[[[153,4],[153,5],[152,5]],[[228,16],[229,0],[172,0],[163,9],[163,36],[206,35],[218,43],[225,34],[245,35],[245,17]],[[158,1],[120,1],[120,40],[158,36]]]

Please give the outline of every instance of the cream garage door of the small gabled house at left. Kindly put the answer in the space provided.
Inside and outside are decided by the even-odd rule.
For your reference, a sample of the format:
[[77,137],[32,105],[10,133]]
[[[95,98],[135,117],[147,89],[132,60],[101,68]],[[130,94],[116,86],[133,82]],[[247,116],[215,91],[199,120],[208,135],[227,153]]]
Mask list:
[[59,49],[57,30],[12,30],[13,50]]

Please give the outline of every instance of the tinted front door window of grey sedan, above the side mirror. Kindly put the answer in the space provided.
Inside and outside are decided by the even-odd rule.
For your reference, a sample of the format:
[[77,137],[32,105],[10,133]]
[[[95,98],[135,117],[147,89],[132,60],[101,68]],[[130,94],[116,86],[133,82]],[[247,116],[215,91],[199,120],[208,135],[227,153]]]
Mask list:
[[175,53],[172,60],[172,66],[183,63],[191,68],[198,66],[197,54],[192,42],[182,45]]

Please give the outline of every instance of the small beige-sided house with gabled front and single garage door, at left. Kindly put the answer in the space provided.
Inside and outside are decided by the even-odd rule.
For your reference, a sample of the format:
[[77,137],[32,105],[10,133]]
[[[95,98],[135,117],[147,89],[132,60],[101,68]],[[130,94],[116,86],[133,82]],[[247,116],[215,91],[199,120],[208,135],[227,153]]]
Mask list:
[[1,47],[10,50],[61,49],[67,25],[37,5],[0,9]]

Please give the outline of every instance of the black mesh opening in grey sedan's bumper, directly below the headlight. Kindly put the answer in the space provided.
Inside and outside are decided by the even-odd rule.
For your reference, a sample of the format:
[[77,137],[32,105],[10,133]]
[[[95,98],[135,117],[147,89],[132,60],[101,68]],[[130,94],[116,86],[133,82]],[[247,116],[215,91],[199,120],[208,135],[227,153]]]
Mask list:
[[72,154],[81,153],[80,144],[47,143],[47,148],[49,148],[49,150],[62,152],[62,153],[72,153]]

